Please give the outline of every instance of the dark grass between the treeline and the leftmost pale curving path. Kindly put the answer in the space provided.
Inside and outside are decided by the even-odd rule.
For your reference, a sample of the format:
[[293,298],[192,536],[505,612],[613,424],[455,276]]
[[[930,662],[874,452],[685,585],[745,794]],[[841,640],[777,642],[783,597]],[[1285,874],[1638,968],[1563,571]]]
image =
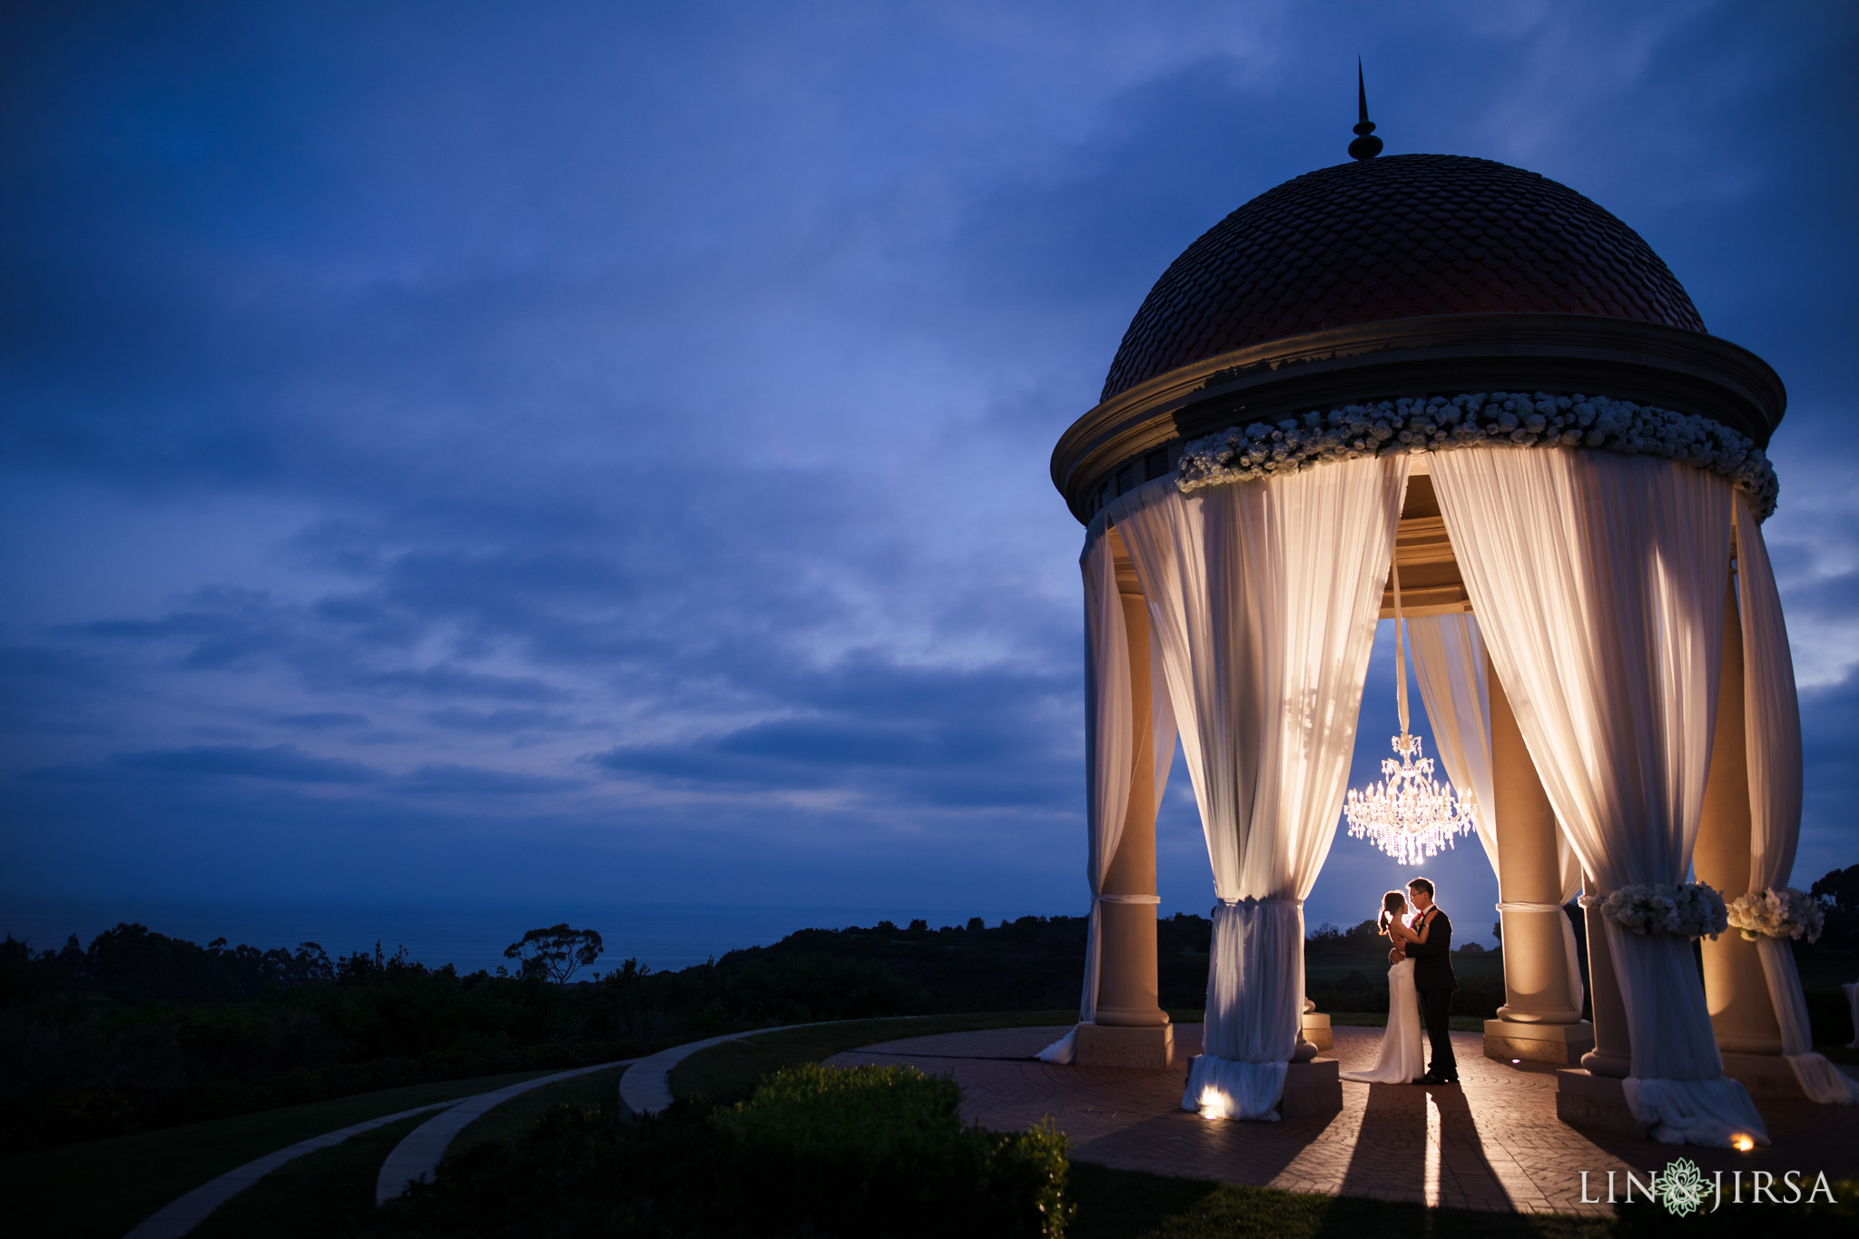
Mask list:
[[381,1115],[550,1074],[407,1085],[0,1157],[0,1200],[13,1219],[7,1230],[43,1239],[119,1239],[162,1206],[253,1157]]

